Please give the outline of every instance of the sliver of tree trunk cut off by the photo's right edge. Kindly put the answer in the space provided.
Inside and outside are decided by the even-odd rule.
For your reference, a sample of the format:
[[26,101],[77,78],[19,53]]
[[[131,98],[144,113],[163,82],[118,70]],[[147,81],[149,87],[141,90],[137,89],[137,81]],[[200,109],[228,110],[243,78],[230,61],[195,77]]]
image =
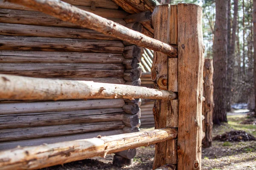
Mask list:
[[[256,98],[256,0],[253,0],[253,47],[254,47],[254,95]],[[255,99],[255,105],[256,105],[256,99]],[[256,109],[255,109],[256,110]],[[254,116],[256,116],[256,112],[254,112]]]

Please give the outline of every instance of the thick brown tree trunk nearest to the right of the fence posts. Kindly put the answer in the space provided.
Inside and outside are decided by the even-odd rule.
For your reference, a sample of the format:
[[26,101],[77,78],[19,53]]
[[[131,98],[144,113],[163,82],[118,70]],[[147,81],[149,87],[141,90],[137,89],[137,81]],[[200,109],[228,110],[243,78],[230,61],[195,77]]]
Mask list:
[[227,8],[228,0],[216,0],[215,39],[213,49],[214,103],[213,123],[227,122]]

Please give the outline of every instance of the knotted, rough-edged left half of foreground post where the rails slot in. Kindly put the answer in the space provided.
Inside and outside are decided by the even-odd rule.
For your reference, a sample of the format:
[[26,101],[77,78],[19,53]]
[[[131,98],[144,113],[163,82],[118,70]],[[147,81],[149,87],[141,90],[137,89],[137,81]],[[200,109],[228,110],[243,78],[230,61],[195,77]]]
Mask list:
[[[177,6],[156,6],[151,15],[154,38],[170,45],[177,45]],[[154,52],[151,78],[157,89],[178,90],[177,58]],[[153,113],[155,128],[177,127],[177,100],[156,100]],[[155,145],[153,170],[165,164],[177,164],[177,140]],[[175,167],[175,166],[174,166]]]

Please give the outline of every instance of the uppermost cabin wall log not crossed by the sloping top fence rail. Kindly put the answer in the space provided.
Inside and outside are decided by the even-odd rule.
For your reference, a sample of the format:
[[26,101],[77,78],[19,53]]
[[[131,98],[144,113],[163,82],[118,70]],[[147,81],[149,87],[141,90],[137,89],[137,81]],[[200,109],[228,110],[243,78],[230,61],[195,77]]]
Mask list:
[[0,50],[122,53],[120,41],[0,36]]

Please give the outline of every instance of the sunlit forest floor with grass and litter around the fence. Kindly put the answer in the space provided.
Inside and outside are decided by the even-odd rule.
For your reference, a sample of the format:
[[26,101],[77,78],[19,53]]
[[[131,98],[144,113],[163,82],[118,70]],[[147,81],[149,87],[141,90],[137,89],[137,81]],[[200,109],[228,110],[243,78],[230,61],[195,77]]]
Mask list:
[[[152,130],[147,128],[142,130]],[[246,113],[229,113],[228,123],[214,126],[212,136],[231,130],[244,130],[256,137],[256,118]],[[44,170],[152,170],[154,145],[137,148],[134,164],[127,167],[115,167],[113,154],[106,158],[94,157],[44,168]],[[213,141],[212,147],[202,148],[202,170],[256,170],[256,141],[219,142]]]

